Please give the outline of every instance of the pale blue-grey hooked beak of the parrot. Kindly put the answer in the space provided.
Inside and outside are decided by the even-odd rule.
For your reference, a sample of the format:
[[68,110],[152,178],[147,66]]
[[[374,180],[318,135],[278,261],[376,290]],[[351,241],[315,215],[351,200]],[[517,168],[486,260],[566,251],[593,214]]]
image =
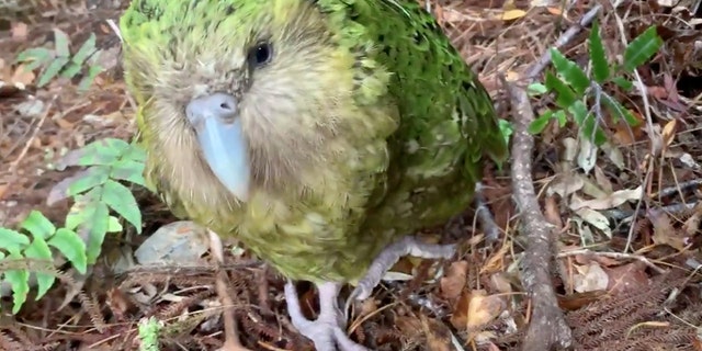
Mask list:
[[212,171],[239,201],[246,202],[251,171],[237,99],[226,93],[197,98],[188,104],[185,114]]

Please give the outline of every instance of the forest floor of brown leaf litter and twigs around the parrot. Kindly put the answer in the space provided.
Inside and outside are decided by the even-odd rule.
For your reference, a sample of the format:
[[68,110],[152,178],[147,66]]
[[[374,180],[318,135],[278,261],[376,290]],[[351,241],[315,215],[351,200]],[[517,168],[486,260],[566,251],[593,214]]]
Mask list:
[[[553,234],[555,260],[547,283],[575,348],[702,350],[697,285],[702,264],[702,5],[647,0],[621,1],[614,9],[609,1],[576,1],[562,8],[565,2],[440,1],[432,11],[507,120],[522,114],[510,111],[500,78],[524,88],[526,71],[566,30],[577,33],[559,50],[591,69],[591,27],[578,23],[593,5],[604,8],[598,15],[601,37],[614,59],[622,59],[626,42],[657,26],[664,44],[638,68],[636,87],[623,93],[603,86],[642,123],[632,127],[608,116],[610,147],[597,158],[585,156],[577,125],[551,123],[535,138],[531,170],[543,224]],[[61,224],[70,203],[49,206],[47,196],[77,171],[56,170],[61,155],[104,137],[129,140],[135,133],[120,39],[109,24],[126,5],[126,0],[0,0],[1,227],[16,227],[32,210]],[[5,11],[10,7],[25,9]],[[104,70],[86,91],[79,89],[84,71],[38,88],[41,68],[25,71],[16,60],[27,48],[54,49],[57,31],[69,38],[71,53],[91,34],[97,37],[99,56],[90,65]],[[554,106],[554,99],[534,97],[530,103],[539,115]],[[401,260],[394,271],[405,279],[384,283],[355,312],[353,339],[377,350],[521,348],[537,305],[526,295],[523,274],[529,272],[520,270],[530,242],[520,230],[524,223],[513,201],[510,168],[488,167],[485,183],[484,196],[503,229],[500,240],[486,244],[467,213],[466,225],[445,230],[462,237],[461,254],[441,267]],[[200,269],[135,263],[140,246],[168,251],[174,249],[165,247],[176,240],[168,235],[165,241],[146,240],[176,219],[156,199],[138,194],[144,234],[109,238],[91,274],[81,276],[64,265],[72,279],[57,283],[38,302],[30,295],[14,316],[3,313],[0,350],[136,350],[138,324],[151,316],[165,324],[163,350],[222,347],[222,305],[208,261]],[[202,239],[191,240],[189,250],[206,251],[206,238],[196,228],[178,223],[170,229]],[[227,250],[226,261],[242,342],[252,350],[313,350],[286,317],[284,281],[247,253]],[[0,293],[9,310],[7,286]],[[314,305],[313,290],[301,297],[306,307]]]

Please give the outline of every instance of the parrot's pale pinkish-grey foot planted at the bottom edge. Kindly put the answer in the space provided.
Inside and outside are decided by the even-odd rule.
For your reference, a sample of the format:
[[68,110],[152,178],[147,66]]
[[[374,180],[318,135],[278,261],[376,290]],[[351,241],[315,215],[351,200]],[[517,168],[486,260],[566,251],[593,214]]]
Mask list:
[[318,284],[317,290],[319,292],[319,316],[313,321],[303,315],[295,285],[292,281],[287,281],[285,302],[293,326],[297,328],[299,333],[314,342],[317,351],[369,351],[351,340],[342,330],[346,326],[346,319],[337,303],[341,284],[326,282]]

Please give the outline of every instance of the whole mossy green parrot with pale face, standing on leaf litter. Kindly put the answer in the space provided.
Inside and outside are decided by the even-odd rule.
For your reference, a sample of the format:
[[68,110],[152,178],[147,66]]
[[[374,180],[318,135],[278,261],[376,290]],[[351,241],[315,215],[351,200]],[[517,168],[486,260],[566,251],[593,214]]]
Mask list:
[[[365,350],[340,287],[364,299],[473,201],[508,156],[490,97],[415,0],[133,0],[120,22],[146,177],[171,211],[288,279],[317,350]],[[319,291],[303,317],[293,280]]]

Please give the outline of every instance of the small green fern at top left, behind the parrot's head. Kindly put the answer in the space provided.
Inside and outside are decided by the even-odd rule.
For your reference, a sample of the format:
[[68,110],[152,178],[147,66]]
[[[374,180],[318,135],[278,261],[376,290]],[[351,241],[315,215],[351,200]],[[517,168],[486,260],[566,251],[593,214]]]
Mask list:
[[[70,38],[66,33],[55,29],[54,41],[54,49],[46,47],[29,48],[18,55],[16,61],[26,64],[25,69],[27,70],[42,67],[37,82],[38,88],[46,86],[56,77],[72,79],[83,71],[84,65],[88,65],[87,71],[78,84],[79,91],[88,90],[95,77],[103,70],[102,67],[94,64],[100,55],[100,50],[95,47],[95,34],[91,33],[72,56],[69,48]],[[93,64],[89,63],[89,60],[92,60]]]

